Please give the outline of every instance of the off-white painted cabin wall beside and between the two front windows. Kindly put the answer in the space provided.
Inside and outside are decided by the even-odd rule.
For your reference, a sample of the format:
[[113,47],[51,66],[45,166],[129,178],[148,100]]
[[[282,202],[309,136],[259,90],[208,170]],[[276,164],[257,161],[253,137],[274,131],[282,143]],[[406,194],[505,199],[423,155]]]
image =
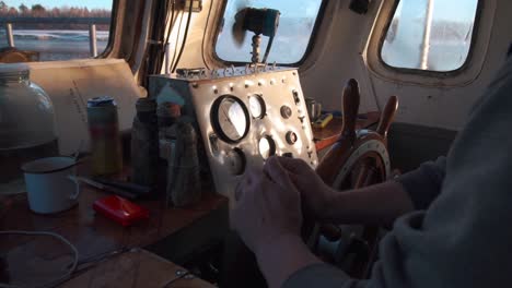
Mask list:
[[[389,96],[397,95],[400,99],[397,121],[458,130],[504,61],[512,40],[512,1],[482,2],[469,64],[459,73],[443,76],[403,73],[381,62],[380,40],[393,17],[396,0],[374,0],[365,15],[350,11],[349,1],[328,1],[314,49],[300,68],[305,96],[319,100],[326,109],[340,109],[345,83],[353,77],[361,85],[360,111],[379,110]],[[206,0],[203,11],[193,17],[179,67],[222,65],[211,57],[211,39],[216,37],[217,20],[222,17],[222,3],[213,2],[207,25],[210,3],[211,0]],[[201,48],[205,29],[207,41]]]

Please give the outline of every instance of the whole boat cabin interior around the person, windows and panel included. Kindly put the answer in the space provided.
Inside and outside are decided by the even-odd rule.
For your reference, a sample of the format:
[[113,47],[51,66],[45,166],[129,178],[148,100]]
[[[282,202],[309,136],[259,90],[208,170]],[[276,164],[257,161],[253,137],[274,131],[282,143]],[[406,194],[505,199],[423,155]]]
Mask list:
[[[248,171],[302,159],[344,191],[446,155],[507,60],[511,14],[508,0],[0,1],[0,287],[266,287],[230,223]],[[368,278],[388,229],[302,231]]]

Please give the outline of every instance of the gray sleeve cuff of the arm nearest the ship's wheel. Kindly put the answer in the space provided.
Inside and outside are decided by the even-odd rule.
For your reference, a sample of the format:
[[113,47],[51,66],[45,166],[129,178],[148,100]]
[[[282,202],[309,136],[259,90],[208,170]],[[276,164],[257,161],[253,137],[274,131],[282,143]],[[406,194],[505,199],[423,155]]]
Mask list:
[[416,209],[427,209],[441,192],[446,169],[446,158],[422,164],[418,169],[396,179],[409,193]]

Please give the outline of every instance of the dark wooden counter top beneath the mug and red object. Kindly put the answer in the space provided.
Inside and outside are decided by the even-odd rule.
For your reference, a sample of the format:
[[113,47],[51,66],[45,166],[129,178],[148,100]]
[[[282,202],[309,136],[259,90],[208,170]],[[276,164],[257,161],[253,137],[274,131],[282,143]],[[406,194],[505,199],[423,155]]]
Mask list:
[[[125,228],[93,211],[93,202],[109,194],[84,185],[79,205],[55,215],[38,215],[31,212],[26,194],[9,196],[3,201],[7,203],[4,211],[0,212],[0,230],[56,232],[75,245],[80,261],[88,261],[108,255],[116,250],[153,244],[210,212],[228,205],[225,197],[216,194],[206,194],[200,203],[187,208],[165,208],[163,201],[138,201],[137,204],[150,211],[150,219]],[[0,283],[25,284],[26,280],[31,280],[40,285],[66,272],[65,265],[69,265],[70,262],[70,249],[53,238],[0,235]],[[123,266],[119,268],[123,271]],[[170,272],[170,275],[172,274],[173,272]],[[121,283],[123,286],[108,287],[150,287],[125,286],[126,283]],[[181,284],[179,287],[207,286]]]

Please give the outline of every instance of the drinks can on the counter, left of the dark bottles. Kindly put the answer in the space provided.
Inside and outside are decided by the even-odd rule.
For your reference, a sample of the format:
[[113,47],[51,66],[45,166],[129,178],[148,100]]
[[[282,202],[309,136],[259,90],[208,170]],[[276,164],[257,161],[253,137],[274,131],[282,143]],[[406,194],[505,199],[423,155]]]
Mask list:
[[88,122],[91,136],[91,172],[119,172],[123,168],[123,152],[115,100],[108,96],[89,99]]

